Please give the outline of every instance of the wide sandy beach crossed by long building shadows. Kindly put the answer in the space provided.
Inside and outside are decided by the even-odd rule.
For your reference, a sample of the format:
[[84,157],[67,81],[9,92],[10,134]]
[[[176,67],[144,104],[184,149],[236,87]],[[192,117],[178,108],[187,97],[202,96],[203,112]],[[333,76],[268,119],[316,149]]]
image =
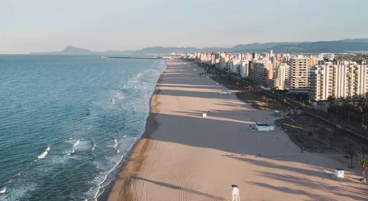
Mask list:
[[[368,200],[360,168],[348,169],[348,159],[301,153],[278,128],[252,132],[254,123],[273,124],[272,111],[253,109],[235,91],[219,94],[226,88],[199,78],[202,67],[166,64],[146,132],[116,175],[109,201],[231,200],[232,184],[241,200]],[[334,177],[335,167],[345,178]]]

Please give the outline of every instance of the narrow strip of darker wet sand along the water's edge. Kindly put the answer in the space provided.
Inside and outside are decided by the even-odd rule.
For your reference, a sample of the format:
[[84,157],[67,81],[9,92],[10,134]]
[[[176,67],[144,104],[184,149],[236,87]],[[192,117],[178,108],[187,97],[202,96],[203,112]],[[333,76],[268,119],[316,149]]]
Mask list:
[[167,69],[166,61],[165,65],[166,68],[158,77],[154,91],[149,101],[150,110],[147,117],[145,131],[141,138],[135,142],[132,149],[128,152],[126,161],[124,161],[122,166],[119,168],[119,172],[115,174],[115,179],[111,182],[112,187],[106,196],[107,201],[123,201],[133,199],[133,196],[129,190],[131,179],[142,168],[143,162],[146,158],[146,152],[150,147],[150,136],[159,126],[159,123],[155,120],[156,114],[159,113],[159,110],[156,107],[160,105],[160,102],[157,100],[157,94],[161,92],[161,90],[158,89],[158,84],[161,83],[163,73],[165,73]]

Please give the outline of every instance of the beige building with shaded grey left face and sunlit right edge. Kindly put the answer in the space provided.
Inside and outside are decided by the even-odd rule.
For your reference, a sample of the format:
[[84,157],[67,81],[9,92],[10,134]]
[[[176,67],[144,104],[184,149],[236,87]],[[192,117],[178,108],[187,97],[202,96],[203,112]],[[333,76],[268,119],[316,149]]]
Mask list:
[[262,86],[272,86],[273,66],[270,61],[255,60],[252,62],[250,78]]

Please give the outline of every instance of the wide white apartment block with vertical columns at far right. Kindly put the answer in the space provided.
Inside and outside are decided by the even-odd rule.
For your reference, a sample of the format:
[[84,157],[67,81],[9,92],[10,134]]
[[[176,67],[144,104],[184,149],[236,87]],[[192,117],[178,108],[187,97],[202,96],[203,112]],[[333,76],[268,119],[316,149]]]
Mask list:
[[356,62],[325,62],[310,69],[309,96],[312,101],[325,100],[328,96],[355,99],[367,97],[368,66]]

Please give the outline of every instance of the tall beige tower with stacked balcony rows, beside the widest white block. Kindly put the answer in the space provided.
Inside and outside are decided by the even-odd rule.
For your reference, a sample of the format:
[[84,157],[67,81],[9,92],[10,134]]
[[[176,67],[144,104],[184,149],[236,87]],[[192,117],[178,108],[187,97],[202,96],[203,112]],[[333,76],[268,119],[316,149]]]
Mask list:
[[289,60],[289,92],[309,91],[309,58],[298,55]]

